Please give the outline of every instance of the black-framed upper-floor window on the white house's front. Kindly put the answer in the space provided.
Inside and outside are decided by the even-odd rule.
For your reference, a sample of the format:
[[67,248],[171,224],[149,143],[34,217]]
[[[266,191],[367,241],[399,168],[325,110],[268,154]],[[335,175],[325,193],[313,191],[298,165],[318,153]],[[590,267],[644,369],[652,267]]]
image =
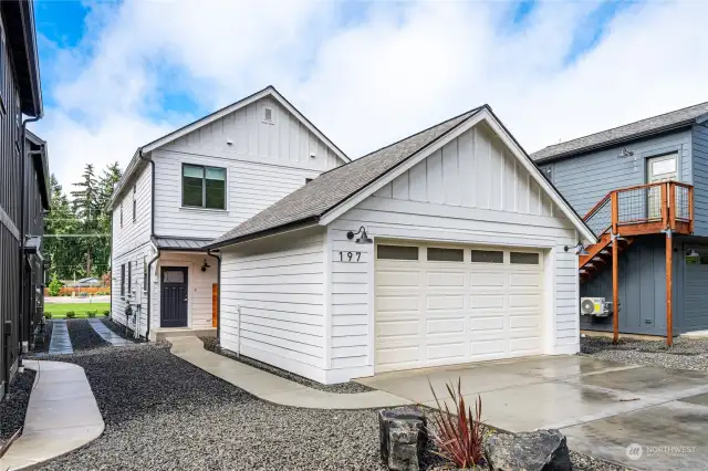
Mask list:
[[181,206],[226,209],[226,168],[184,164]]

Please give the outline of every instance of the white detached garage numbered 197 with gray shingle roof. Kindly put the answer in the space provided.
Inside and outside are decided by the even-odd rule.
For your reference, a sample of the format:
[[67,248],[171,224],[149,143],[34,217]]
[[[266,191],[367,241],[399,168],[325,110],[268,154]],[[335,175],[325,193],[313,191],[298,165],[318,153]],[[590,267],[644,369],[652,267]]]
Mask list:
[[321,175],[210,243],[220,343],[325,384],[573,354],[581,241],[595,236],[485,105]]

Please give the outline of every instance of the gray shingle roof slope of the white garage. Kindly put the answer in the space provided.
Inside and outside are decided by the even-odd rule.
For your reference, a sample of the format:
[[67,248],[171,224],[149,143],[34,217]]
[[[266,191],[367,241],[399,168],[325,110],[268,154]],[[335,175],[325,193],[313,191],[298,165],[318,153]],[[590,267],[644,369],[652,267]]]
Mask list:
[[[314,222],[369,182],[405,161],[479,112],[471,109],[403,140],[320,175],[302,188],[217,238],[209,247],[228,245],[282,226]],[[225,243],[226,242],[226,243]]]

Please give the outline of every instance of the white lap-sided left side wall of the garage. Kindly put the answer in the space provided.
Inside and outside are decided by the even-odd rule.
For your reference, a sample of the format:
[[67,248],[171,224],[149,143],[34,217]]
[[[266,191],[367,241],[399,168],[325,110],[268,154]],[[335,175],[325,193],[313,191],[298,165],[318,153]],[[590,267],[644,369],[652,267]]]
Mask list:
[[323,228],[225,249],[221,346],[324,383],[324,266]]

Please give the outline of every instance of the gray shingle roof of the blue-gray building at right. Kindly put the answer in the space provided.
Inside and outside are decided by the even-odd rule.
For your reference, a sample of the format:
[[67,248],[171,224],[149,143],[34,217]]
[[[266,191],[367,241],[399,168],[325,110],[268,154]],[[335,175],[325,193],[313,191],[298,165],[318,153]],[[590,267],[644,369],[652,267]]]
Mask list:
[[652,135],[674,127],[687,125],[706,113],[708,113],[708,102],[603,130],[601,133],[591,134],[590,136],[580,137],[566,143],[548,146],[531,154],[531,158],[537,161],[545,160],[576,154],[582,150],[620,144],[623,140],[629,140],[641,136]]

